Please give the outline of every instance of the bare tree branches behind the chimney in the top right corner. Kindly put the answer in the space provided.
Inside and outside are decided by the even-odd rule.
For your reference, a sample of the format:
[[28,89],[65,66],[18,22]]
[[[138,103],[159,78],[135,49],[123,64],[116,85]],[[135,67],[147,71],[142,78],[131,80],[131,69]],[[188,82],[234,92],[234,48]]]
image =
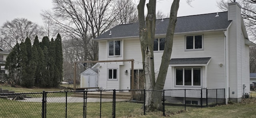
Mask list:
[[[241,7],[241,14],[244,19],[246,30],[250,37],[256,36],[256,0],[219,0],[217,2],[218,7],[223,10],[228,10],[228,2],[238,2]],[[251,38],[254,39],[255,38]]]

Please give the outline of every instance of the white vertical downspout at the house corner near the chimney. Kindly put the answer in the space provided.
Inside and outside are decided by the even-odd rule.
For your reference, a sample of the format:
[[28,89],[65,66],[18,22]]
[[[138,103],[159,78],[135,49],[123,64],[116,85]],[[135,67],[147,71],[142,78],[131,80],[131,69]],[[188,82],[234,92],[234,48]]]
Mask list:
[[[225,75],[225,77],[224,77],[224,79],[225,79],[225,90],[224,90],[224,92],[225,92],[225,104],[228,104],[228,97],[227,97],[227,55],[226,55],[226,51],[227,51],[227,49],[226,49],[226,35],[225,35],[225,31],[223,31],[223,34],[224,34],[224,36],[225,36],[225,38],[224,38],[224,65],[225,65],[225,71],[224,71],[224,75]],[[228,96],[229,96],[229,94],[230,93],[228,93]]]

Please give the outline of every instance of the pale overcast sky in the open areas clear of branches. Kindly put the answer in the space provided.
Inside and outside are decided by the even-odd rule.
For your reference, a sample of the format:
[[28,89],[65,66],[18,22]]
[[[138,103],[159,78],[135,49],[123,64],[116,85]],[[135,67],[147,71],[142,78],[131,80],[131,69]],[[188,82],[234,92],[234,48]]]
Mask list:
[[[173,0],[157,1],[157,10],[162,10],[166,14],[170,12]],[[191,3],[191,7],[186,4],[186,0],[180,0],[178,16],[220,12],[216,6],[216,1],[194,0]],[[14,18],[26,18],[39,25],[43,25],[40,13],[42,13],[42,10],[50,10],[52,7],[52,0],[0,0],[0,26],[7,20],[11,21]]]

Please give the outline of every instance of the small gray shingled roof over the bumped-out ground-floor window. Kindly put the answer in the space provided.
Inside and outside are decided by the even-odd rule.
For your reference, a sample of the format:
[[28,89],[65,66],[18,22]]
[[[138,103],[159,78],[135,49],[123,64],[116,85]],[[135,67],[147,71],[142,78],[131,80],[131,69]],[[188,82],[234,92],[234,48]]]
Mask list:
[[207,64],[211,57],[171,59],[170,64]]

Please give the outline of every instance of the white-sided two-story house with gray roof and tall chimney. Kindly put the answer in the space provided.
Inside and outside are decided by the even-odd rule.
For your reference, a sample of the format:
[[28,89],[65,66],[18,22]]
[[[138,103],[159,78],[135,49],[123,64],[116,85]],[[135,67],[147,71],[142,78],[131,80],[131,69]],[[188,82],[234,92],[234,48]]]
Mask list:
[[[168,22],[168,18],[156,20],[156,76]],[[118,25],[94,39],[99,42],[99,61],[134,59],[134,89],[144,87],[140,79],[142,54],[138,28],[138,23]],[[241,101],[243,94],[250,92],[249,46],[255,44],[248,39],[237,2],[228,4],[228,12],[178,17],[164,89],[225,88],[226,103]],[[129,62],[99,65],[99,87],[131,88]],[[172,96],[184,93],[175,94]],[[193,94],[190,97],[196,98]]]

